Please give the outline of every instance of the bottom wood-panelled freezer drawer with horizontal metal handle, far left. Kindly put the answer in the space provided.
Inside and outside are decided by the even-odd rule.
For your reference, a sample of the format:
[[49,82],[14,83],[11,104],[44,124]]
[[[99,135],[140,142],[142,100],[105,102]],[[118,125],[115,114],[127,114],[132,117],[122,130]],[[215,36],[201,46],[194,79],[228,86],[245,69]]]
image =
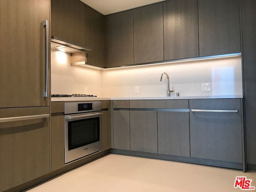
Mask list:
[[[32,115],[46,117],[3,122]],[[49,127],[49,107],[0,109],[0,191],[50,172]]]

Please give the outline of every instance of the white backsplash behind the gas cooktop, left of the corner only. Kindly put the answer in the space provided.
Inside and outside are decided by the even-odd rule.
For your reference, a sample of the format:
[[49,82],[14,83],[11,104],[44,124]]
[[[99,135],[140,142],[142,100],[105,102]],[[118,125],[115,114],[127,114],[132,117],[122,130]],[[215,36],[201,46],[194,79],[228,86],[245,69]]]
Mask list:
[[88,94],[101,96],[101,71],[83,66],[70,66],[70,54],[51,50],[52,94]]

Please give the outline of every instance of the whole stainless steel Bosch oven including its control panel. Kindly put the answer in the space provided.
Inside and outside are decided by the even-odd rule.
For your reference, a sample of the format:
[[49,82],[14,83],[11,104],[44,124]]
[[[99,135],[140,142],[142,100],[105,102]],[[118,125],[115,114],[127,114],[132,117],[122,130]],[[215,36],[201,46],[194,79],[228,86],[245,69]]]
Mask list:
[[65,103],[65,164],[101,151],[101,102]]

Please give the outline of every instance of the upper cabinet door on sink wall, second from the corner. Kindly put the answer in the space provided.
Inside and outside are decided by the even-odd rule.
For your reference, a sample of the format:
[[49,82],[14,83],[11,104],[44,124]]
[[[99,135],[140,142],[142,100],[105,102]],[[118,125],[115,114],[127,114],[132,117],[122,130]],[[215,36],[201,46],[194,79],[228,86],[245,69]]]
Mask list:
[[133,10],[134,64],[164,60],[163,3]]

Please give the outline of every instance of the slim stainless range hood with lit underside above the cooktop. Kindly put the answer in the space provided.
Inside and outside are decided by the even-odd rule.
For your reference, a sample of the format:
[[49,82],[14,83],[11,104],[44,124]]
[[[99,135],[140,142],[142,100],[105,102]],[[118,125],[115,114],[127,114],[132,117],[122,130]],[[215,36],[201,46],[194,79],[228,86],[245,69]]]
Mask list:
[[89,47],[81,46],[76,43],[63,40],[57,36],[51,38],[51,48],[62,52],[76,53],[81,51],[91,51]]

